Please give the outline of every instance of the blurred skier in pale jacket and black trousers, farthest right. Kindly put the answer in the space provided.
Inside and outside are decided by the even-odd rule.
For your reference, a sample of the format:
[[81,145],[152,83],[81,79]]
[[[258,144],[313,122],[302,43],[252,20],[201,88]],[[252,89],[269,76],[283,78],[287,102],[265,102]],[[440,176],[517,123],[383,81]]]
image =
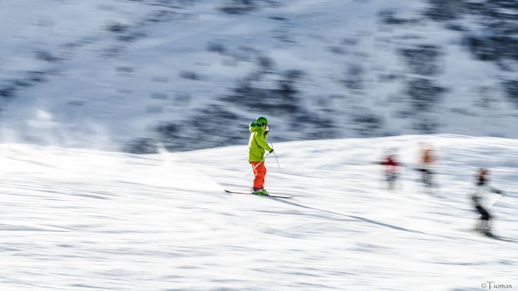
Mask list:
[[475,230],[482,232],[486,236],[493,236],[491,233],[491,215],[489,212],[487,212],[487,209],[482,207],[482,202],[484,200],[484,194],[487,192],[496,193],[499,195],[503,195],[500,190],[497,190],[491,186],[488,185],[487,181],[487,169],[480,168],[477,174],[476,179],[476,191],[471,196],[471,199],[473,201],[474,207],[477,209],[477,211],[481,214],[480,220],[477,223],[477,226]]

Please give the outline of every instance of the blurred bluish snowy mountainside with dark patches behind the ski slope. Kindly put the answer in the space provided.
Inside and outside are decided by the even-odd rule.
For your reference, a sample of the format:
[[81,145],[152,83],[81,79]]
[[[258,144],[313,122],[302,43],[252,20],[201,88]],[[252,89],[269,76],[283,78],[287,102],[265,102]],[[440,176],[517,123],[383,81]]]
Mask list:
[[518,138],[512,0],[2,0],[3,142]]

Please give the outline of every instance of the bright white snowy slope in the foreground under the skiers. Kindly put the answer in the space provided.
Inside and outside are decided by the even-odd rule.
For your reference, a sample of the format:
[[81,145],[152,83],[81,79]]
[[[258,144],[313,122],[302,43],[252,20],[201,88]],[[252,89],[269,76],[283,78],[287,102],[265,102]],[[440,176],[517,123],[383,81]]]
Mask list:
[[[383,148],[411,166],[433,143],[440,190],[379,186]],[[464,136],[295,141],[267,161],[270,191],[250,184],[246,148],[130,155],[3,144],[0,289],[479,290],[516,284],[518,142]],[[508,193],[495,233],[470,229],[477,167]]]

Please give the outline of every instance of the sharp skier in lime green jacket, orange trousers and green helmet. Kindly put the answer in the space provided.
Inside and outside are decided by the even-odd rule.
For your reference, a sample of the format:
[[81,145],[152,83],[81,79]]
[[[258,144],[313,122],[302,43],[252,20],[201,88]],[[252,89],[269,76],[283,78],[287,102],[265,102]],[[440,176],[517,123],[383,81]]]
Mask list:
[[252,165],[254,172],[254,182],[252,186],[253,194],[268,195],[264,188],[264,178],[266,167],[264,165],[264,151],[273,152],[274,150],[266,143],[269,128],[268,121],[264,117],[258,117],[249,126],[250,140],[248,141],[248,163]]

